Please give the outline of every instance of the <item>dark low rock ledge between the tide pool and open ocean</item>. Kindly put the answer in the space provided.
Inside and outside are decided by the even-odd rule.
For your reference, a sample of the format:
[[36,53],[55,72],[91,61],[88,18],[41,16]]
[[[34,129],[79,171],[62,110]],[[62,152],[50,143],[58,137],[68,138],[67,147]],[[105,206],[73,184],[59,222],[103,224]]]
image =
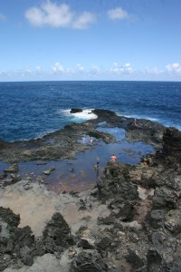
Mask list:
[[[82,112],[72,109],[71,112]],[[31,141],[2,142],[0,160],[11,163],[30,160],[64,160],[73,159],[77,152],[90,148],[89,144],[82,145],[83,135],[90,135],[106,143],[115,142],[115,137],[109,133],[97,131],[101,121],[108,126],[117,126],[127,131],[128,141],[146,141],[155,147],[161,147],[164,126],[148,120],[139,120],[134,125],[133,118],[118,116],[115,112],[96,109],[91,111],[98,118],[85,123],[72,123],[62,130],[45,135],[41,139]]]

